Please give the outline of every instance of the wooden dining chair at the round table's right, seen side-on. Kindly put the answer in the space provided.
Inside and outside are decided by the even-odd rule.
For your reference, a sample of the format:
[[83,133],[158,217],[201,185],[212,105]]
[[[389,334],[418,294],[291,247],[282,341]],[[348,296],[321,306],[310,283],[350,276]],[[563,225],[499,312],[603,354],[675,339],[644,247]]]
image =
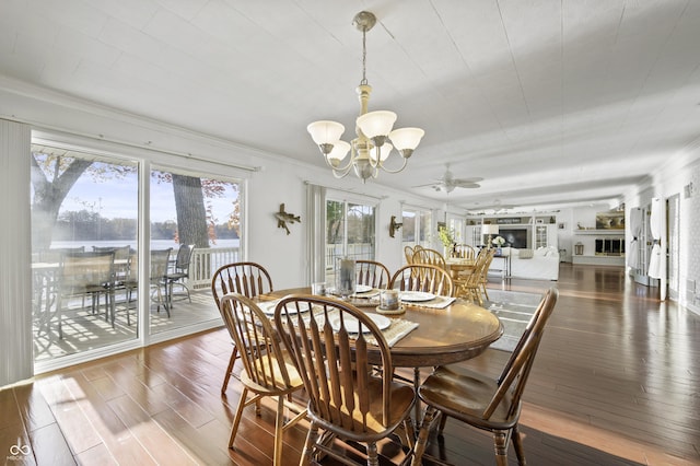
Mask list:
[[431,429],[440,419],[439,432],[442,433],[447,417],[491,432],[498,465],[508,465],[511,440],[518,464],[525,464],[517,426],[521,397],[558,296],[556,288],[545,294],[498,378],[457,364],[439,366],[425,378],[418,391],[427,408],[413,464],[421,464]]

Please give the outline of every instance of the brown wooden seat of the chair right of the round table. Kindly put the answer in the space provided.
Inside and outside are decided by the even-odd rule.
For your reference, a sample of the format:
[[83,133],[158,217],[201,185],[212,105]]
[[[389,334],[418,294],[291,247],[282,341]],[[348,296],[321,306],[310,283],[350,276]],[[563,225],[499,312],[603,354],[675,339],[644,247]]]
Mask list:
[[459,365],[444,365],[425,378],[418,395],[425,404],[470,424],[511,429],[517,422],[520,407],[511,416],[508,415],[512,403],[510,393],[503,397],[490,419],[481,417],[498,388],[497,381],[491,377]]

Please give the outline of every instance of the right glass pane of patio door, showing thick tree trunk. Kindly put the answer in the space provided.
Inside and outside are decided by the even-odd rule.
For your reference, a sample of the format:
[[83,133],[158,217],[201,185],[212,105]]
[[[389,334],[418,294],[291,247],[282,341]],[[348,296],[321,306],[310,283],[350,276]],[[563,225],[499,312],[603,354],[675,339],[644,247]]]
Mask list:
[[151,334],[219,321],[211,277],[241,260],[240,183],[162,166],[150,179]]

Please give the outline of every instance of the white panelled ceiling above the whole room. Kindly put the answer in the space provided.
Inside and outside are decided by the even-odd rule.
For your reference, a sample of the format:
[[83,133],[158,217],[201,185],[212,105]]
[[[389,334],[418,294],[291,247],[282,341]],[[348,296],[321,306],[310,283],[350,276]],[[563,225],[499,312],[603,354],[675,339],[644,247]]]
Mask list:
[[[354,126],[362,10],[370,109],[425,130],[372,183],[466,209],[612,205],[697,149],[697,0],[0,0],[0,73],[320,166],[306,125]],[[446,163],[481,187],[412,188]]]

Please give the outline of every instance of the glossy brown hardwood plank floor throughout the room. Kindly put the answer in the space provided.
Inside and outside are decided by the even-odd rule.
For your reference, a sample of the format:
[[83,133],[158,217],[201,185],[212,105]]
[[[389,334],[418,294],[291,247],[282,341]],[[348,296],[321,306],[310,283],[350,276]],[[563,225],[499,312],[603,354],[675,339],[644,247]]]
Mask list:
[[[614,267],[562,264],[556,283],[489,283],[551,284],[560,299],[521,418],[529,464],[700,464],[700,317]],[[214,330],[0,391],[5,464],[271,464],[269,401],[258,418],[246,410],[236,450],[225,446],[240,394],[232,381],[220,395],[230,351],[225,330]],[[465,364],[500,366],[506,356],[491,350]],[[285,434],[284,465],[298,464],[306,426]],[[429,453],[494,463],[491,438],[452,419]]]

